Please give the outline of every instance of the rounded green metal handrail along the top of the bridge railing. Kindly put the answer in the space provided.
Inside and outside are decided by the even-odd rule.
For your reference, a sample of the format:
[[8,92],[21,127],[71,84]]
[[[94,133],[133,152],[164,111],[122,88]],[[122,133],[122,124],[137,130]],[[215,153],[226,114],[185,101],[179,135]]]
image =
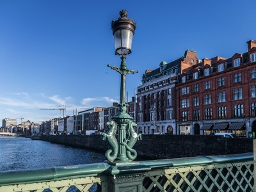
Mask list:
[[210,164],[227,164],[244,161],[253,161],[253,153],[133,161],[132,163],[122,164],[95,163],[41,168],[37,170],[19,170],[0,172],[0,186],[51,182],[55,180],[76,179],[81,177],[102,177],[104,175],[132,175],[150,172],[151,170],[185,168],[188,166],[208,166]]

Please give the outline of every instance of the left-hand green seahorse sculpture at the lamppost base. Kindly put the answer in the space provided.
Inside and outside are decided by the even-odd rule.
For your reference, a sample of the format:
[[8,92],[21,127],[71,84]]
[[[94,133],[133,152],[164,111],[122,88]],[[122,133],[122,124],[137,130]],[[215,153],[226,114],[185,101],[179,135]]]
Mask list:
[[110,122],[107,122],[106,125],[109,126],[109,131],[107,133],[102,133],[103,140],[107,140],[111,148],[106,151],[106,158],[108,161],[112,162],[116,159],[118,154],[118,142],[116,140],[116,130],[117,125],[116,122],[111,120]]

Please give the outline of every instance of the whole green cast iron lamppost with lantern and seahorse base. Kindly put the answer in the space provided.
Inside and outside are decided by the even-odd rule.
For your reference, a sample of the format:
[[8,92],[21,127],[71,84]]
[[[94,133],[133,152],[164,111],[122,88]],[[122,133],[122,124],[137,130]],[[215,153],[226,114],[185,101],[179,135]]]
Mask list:
[[[137,152],[132,147],[137,140],[141,139],[141,134],[138,135],[133,128],[137,124],[126,113],[128,105],[125,103],[125,76],[138,72],[129,70],[125,63],[125,58],[132,52],[132,38],[136,28],[136,23],[132,19],[127,19],[127,14],[126,10],[120,11],[118,20],[111,23],[111,29],[115,37],[115,54],[118,54],[122,61],[120,67],[112,65],[108,65],[108,67],[116,70],[121,75],[120,103],[118,104],[119,113],[113,116],[110,122],[106,123],[109,126],[109,131],[102,134],[103,139],[111,145],[111,149],[106,152],[106,158],[110,162],[116,161],[117,163],[131,162],[136,159]],[[118,134],[117,139],[116,132]],[[126,135],[128,135],[128,138],[126,138]]]

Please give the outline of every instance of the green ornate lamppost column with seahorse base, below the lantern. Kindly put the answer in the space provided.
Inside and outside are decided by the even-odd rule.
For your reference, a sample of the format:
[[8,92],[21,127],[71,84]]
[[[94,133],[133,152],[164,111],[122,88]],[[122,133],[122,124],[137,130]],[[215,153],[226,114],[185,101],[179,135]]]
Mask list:
[[[108,138],[109,145],[111,149],[106,152],[106,158],[108,161],[113,162],[115,159],[118,161],[133,161],[137,157],[136,150],[132,149],[135,145],[136,141],[141,140],[141,134],[137,134],[133,127],[137,126],[133,122],[133,118],[127,114],[128,105],[125,103],[125,76],[128,74],[137,73],[137,70],[129,70],[126,67],[125,58],[122,58],[120,67],[115,67],[112,65],[108,65],[111,69],[115,70],[121,75],[121,86],[120,86],[120,104],[119,113],[113,116],[112,121],[116,123],[117,131],[118,131],[118,139],[116,143],[115,134],[116,129],[111,127],[108,133],[103,133],[104,139]],[[111,122],[112,122],[111,121]],[[107,123],[109,124],[109,122]],[[113,124],[113,122],[111,123]],[[129,134],[129,138],[126,138],[126,132]],[[109,136],[111,135],[111,136]],[[117,147],[118,145],[118,147]],[[117,155],[116,155],[117,152]]]

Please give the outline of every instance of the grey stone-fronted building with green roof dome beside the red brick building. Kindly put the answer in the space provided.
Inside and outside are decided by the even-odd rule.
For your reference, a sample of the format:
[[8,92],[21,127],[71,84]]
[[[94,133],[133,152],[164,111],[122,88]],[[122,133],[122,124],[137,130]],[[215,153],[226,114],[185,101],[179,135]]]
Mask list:
[[175,84],[180,70],[196,65],[196,52],[185,51],[181,58],[161,62],[155,70],[147,69],[138,86],[136,120],[138,132],[154,134],[168,132],[177,134],[175,120]]

